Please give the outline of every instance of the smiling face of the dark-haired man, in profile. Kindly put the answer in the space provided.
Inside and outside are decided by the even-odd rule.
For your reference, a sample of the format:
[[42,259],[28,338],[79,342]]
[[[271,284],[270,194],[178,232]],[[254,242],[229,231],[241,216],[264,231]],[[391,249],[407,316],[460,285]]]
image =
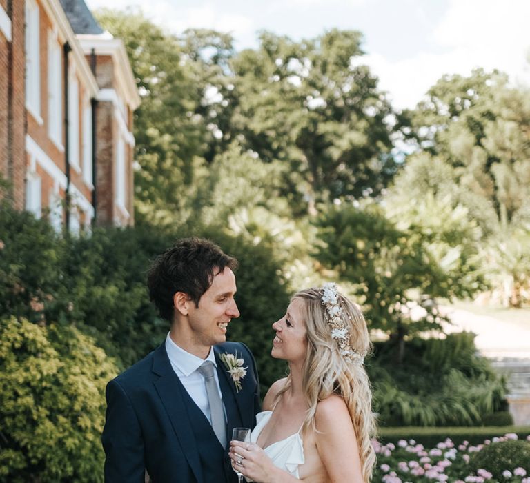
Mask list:
[[188,329],[190,343],[198,352],[210,350],[210,346],[226,341],[226,327],[231,319],[239,317],[235,304],[235,275],[230,268],[213,277],[213,282],[196,307],[189,304]]

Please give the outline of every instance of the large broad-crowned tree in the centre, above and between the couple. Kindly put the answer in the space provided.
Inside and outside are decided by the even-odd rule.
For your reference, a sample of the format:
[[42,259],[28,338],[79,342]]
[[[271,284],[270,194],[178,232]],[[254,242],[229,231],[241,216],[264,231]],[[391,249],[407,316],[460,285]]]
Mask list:
[[317,201],[375,194],[394,172],[391,107],[361,65],[361,34],[330,30],[295,42],[269,32],[234,57],[230,136],[263,161],[289,165],[286,190],[315,211]]

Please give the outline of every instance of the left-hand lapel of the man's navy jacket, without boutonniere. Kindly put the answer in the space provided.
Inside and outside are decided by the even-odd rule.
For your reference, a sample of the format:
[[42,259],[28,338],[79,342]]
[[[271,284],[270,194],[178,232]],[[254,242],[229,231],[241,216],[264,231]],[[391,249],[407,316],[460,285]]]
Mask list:
[[190,418],[186,411],[186,405],[182,397],[182,386],[179,377],[173,371],[166,353],[166,347],[162,344],[155,351],[153,359],[153,372],[160,377],[154,382],[157,393],[168,412],[169,419],[177,435],[182,452],[188,461],[198,482],[203,481],[202,468],[199,461],[199,450]]

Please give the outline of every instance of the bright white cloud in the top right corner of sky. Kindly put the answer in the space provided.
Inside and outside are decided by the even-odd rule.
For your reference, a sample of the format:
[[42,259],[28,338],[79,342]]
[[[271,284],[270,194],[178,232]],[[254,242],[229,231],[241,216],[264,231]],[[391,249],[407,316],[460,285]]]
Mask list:
[[477,67],[497,68],[530,85],[528,19],[528,0],[451,0],[431,36],[443,53],[423,51],[398,61],[375,53],[364,61],[397,108],[413,108],[442,75],[469,75]]

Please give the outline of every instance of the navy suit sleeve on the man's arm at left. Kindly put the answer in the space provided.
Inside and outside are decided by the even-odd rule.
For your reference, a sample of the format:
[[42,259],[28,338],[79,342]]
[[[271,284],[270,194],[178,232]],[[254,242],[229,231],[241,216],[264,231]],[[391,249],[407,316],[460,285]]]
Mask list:
[[105,482],[144,483],[144,441],[133,405],[117,380],[107,384],[106,399],[106,421],[101,436]]

